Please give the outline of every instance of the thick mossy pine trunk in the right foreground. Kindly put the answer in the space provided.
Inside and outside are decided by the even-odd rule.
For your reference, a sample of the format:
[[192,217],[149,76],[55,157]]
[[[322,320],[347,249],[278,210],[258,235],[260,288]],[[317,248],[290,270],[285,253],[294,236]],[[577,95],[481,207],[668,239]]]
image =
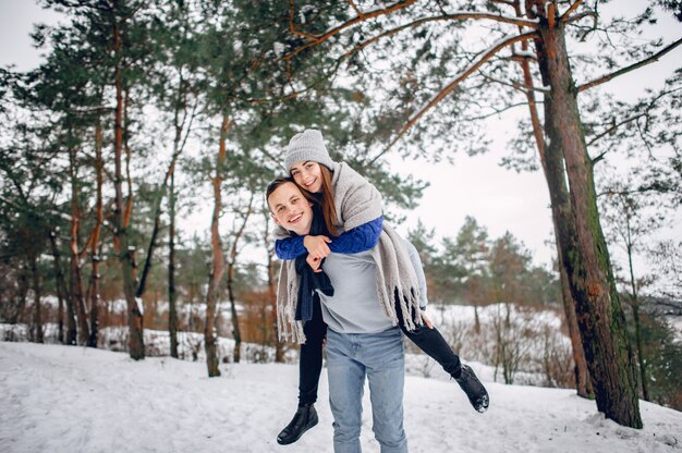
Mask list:
[[548,3],[547,10],[543,0],[528,3],[535,4],[527,11],[534,7],[541,14],[536,51],[543,81],[550,87],[545,100],[548,171],[557,172],[555,177],[564,177],[559,169],[549,168],[550,154],[563,156],[573,219],[570,226],[574,225],[575,231],[558,238],[576,303],[597,408],[621,425],[642,428],[634,357],[599,224],[592,161],[580,120],[563,23],[558,21],[553,3]]

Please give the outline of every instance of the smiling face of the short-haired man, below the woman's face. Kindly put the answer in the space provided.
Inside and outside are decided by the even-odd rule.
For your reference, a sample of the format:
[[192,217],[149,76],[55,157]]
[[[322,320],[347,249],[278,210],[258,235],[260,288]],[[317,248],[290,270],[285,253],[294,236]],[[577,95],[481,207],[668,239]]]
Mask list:
[[313,223],[313,204],[294,183],[284,183],[268,197],[275,222],[299,235],[308,234]]

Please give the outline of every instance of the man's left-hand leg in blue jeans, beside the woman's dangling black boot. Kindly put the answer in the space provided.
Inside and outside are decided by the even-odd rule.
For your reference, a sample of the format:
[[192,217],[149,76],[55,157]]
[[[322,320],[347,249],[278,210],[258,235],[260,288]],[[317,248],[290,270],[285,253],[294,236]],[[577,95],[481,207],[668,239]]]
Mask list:
[[329,405],[333,415],[336,453],[360,453],[365,367],[354,359],[356,334],[327,332]]

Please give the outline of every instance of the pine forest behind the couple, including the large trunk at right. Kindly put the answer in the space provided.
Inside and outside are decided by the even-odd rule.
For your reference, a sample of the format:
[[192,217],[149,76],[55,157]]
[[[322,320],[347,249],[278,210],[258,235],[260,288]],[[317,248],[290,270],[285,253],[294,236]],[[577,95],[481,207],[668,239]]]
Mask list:
[[604,90],[679,59],[680,1],[38,3],[62,17],[34,27],[40,65],[0,66],[3,341],[209,377],[295,362],[264,198],[289,138],[322,131],[400,224],[428,182],[391,161],[488,152],[485,122],[514,112],[500,161],[544,175],[553,266],[473,217],[419,223],[429,314],[496,380],[574,389],[631,428],[641,400],[682,409],[682,68],[636,101]]

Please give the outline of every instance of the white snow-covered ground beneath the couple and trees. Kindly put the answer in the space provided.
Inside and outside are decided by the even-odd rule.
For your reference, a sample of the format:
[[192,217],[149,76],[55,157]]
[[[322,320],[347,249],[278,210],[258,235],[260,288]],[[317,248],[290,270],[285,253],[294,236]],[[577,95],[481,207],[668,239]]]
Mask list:
[[[322,375],[320,424],[299,442],[275,438],[296,405],[295,365],[204,363],[0,342],[0,452],[331,452]],[[485,380],[485,372],[483,374]],[[644,429],[604,419],[573,390],[487,382],[490,409],[474,412],[450,381],[409,376],[411,452],[682,451],[682,413],[641,402]],[[378,451],[365,395],[362,443]]]

